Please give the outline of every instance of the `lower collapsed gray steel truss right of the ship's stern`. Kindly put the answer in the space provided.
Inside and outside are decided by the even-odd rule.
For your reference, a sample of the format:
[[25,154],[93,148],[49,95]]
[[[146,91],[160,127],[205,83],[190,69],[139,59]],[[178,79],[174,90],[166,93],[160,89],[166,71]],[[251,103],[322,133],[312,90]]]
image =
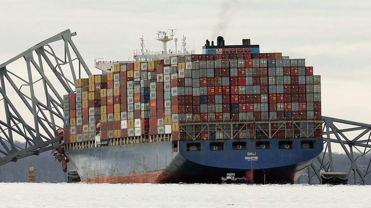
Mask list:
[[[371,150],[371,124],[347,121],[338,118],[322,116],[324,151],[308,168],[309,184],[312,178],[321,181],[321,171],[334,172],[332,161],[332,145],[339,144],[351,163],[347,172],[349,182],[352,184],[365,184],[365,176],[370,174],[371,159],[368,159],[367,168],[359,167],[357,159],[364,157]],[[342,128],[340,127],[342,126]],[[351,135],[345,135],[348,133]],[[358,154],[358,156],[355,155]],[[370,155],[370,154],[368,154]],[[365,156],[365,158],[367,158]],[[335,171],[336,172],[336,171]]]

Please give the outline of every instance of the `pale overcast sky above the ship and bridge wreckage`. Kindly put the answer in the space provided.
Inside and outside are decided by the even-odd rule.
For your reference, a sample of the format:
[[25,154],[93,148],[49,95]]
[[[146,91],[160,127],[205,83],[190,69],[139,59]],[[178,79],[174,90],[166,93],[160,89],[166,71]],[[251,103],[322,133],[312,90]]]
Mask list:
[[141,36],[149,50],[159,50],[157,30],[177,29],[196,53],[219,35],[226,45],[250,38],[262,53],[305,58],[314,67],[322,79],[322,115],[371,123],[369,0],[3,0],[0,10],[1,63],[68,28],[91,69],[97,57],[132,60]]

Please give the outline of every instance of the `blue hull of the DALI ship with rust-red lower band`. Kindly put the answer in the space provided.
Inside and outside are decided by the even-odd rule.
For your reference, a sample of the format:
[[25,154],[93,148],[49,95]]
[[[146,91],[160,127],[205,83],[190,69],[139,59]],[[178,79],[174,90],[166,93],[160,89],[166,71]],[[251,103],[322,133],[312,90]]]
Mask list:
[[[293,147],[279,148],[280,140],[293,141]],[[253,170],[254,183],[263,184],[293,183],[323,149],[322,138],[259,140],[270,141],[270,149],[256,149],[257,140],[253,139],[238,140],[247,147],[233,149],[233,141],[148,142],[69,150],[65,154],[84,182],[220,183],[227,173],[247,177]],[[316,146],[302,149],[301,141],[315,141]],[[224,148],[212,150],[210,143],[215,142],[223,142]],[[192,144],[201,144],[201,148],[189,151]]]

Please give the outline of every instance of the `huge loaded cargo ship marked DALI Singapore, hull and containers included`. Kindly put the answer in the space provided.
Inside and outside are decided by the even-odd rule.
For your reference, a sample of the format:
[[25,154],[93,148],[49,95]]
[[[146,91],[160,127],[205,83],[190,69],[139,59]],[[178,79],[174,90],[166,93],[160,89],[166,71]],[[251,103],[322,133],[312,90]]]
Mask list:
[[164,49],[96,60],[103,75],[64,95],[63,154],[81,181],[293,183],[322,152],[321,79],[305,59],[220,36],[203,54]]

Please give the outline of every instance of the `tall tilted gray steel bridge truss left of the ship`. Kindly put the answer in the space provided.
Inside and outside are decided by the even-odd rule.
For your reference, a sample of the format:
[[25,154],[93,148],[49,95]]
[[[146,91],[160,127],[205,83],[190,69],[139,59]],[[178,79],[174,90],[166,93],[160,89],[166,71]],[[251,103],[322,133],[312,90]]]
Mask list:
[[0,65],[0,165],[58,147],[62,95],[75,91],[81,73],[91,75],[71,39],[75,35],[65,30]]

